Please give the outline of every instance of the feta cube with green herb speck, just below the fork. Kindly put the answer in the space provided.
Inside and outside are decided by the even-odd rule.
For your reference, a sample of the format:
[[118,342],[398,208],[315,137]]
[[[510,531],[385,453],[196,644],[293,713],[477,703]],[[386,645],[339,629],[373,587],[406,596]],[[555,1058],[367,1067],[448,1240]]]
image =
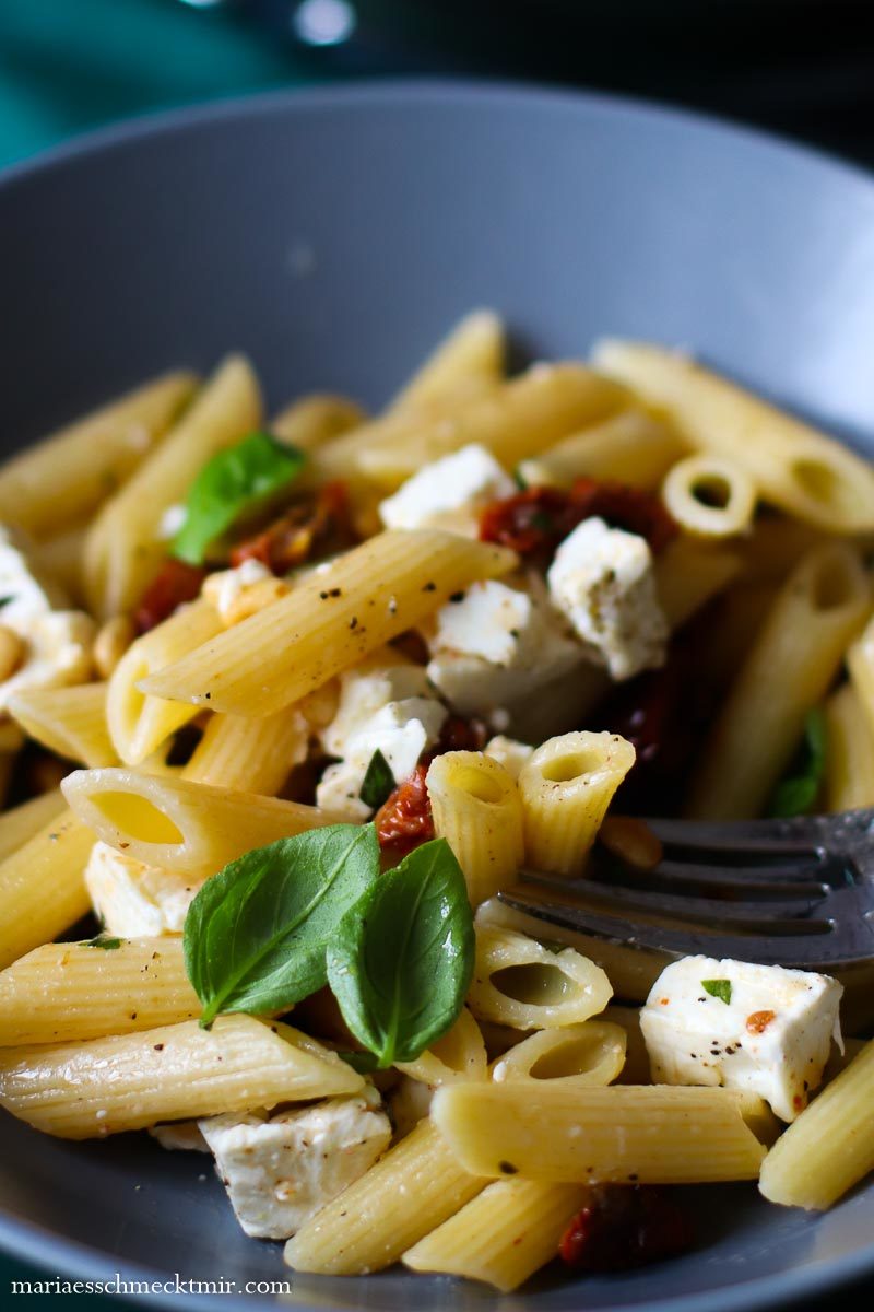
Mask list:
[[840,1043],[843,992],[827,975],[684,956],[641,1013],[653,1080],[747,1089],[794,1120],[822,1080],[832,1035]]

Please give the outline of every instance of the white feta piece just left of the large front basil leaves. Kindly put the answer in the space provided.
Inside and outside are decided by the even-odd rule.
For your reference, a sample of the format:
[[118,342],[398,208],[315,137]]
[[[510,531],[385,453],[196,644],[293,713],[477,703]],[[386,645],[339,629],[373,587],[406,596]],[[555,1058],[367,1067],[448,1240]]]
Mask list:
[[155,938],[182,933],[200,884],[176,870],[144,866],[98,841],[85,866],[85,887],[110,934]]

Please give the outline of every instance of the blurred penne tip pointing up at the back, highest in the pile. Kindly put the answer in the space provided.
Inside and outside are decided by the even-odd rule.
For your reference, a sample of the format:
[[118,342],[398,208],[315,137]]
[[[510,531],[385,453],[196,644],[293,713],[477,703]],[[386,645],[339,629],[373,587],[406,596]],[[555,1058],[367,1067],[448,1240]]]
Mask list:
[[506,333],[493,310],[465,315],[392,401],[392,411],[421,409],[442,401],[465,384],[501,382]]

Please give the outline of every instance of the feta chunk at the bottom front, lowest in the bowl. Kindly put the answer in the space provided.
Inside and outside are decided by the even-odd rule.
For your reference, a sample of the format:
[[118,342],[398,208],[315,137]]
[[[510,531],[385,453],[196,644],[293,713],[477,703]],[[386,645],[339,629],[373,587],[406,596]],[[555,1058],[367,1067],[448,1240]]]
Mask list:
[[246,1235],[288,1239],[373,1165],[392,1127],[379,1096],[200,1120],[216,1170]]

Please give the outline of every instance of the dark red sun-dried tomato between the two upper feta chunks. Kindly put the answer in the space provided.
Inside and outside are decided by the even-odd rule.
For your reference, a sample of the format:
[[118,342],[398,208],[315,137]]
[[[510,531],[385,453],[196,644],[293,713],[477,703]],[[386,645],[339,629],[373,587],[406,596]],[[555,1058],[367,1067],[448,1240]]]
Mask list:
[[480,516],[484,542],[499,542],[523,556],[554,551],[569,533],[599,516],[612,527],[638,533],[653,551],[662,551],[677,526],[653,492],[624,483],[575,479],[570,489],[532,487],[493,501]]

